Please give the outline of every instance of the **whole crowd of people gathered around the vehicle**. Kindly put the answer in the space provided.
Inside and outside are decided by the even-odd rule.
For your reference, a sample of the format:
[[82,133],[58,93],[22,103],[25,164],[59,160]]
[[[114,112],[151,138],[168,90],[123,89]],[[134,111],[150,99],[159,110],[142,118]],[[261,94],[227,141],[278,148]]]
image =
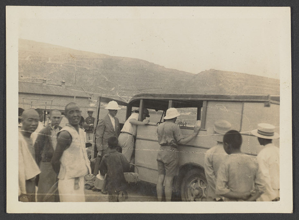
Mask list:
[[[101,193],[108,194],[109,202],[122,202],[128,198],[124,173],[132,171],[137,126],[149,123],[149,110],[144,109],[139,120],[139,109],[125,122],[122,130],[116,117],[120,107],[111,101],[105,109],[96,130],[93,110],[88,109],[84,120],[76,103],[65,106],[68,124],[60,127],[62,114],[53,109],[49,124],[42,125],[43,112],[30,108],[21,112],[19,119],[19,201],[21,202],[85,202],[85,178],[93,181],[105,178]],[[193,140],[193,134],[181,134],[175,123],[180,116],[175,108],[166,111],[164,122],[157,126],[160,149],[157,153],[157,201],[171,201],[172,185],[178,169],[178,145]],[[41,126],[41,127],[40,127]],[[40,128],[39,128],[40,127]],[[259,124],[251,132],[265,146],[258,156],[241,152],[242,136],[231,130],[225,120],[216,121],[208,129],[217,144],[205,154],[204,168],[207,179],[206,201],[278,201],[279,148],[272,143],[279,138],[270,124]],[[84,132],[85,130],[85,132]],[[96,136],[94,160],[86,151],[86,142]],[[37,192],[35,192],[37,189]]]

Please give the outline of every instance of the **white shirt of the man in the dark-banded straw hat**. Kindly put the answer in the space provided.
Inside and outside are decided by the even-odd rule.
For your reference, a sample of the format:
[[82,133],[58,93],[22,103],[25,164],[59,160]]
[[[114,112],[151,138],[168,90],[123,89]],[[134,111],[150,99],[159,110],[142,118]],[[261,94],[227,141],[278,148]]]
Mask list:
[[266,182],[266,192],[258,201],[272,201],[278,197],[277,193],[280,189],[279,148],[272,143],[265,145],[265,148],[258,154],[257,161]]

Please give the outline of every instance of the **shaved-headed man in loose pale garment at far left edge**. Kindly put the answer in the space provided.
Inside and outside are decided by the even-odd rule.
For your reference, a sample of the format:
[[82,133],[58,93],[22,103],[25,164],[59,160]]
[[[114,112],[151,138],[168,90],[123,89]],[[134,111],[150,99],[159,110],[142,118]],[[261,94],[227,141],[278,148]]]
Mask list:
[[40,170],[30,138],[38,126],[38,113],[30,108],[22,113],[22,127],[18,134],[19,201],[35,202],[35,178]]

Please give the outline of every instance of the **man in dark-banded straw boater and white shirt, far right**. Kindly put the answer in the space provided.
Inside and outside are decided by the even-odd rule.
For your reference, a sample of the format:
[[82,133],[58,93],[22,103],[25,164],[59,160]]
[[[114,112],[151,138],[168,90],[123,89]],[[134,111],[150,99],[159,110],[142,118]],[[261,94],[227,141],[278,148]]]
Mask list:
[[274,130],[274,125],[261,123],[258,124],[258,129],[251,132],[252,135],[258,137],[260,145],[264,146],[257,160],[259,170],[266,182],[266,191],[257,201],[280,200],[279,148],[272,143],[273,139],[279,138],[279,134]]

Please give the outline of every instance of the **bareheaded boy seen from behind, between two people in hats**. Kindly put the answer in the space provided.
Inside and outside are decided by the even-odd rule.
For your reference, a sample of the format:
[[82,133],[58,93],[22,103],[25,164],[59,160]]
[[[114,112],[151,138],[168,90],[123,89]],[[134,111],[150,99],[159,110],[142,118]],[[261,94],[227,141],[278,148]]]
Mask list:
[[223,148],[229,156],[219,169],[216,194],[225,197],[225,201],[256,201],[264,192],[258,165],[251,156],[241,152],[241,144],[238,131],[228,131],[223,137]]

